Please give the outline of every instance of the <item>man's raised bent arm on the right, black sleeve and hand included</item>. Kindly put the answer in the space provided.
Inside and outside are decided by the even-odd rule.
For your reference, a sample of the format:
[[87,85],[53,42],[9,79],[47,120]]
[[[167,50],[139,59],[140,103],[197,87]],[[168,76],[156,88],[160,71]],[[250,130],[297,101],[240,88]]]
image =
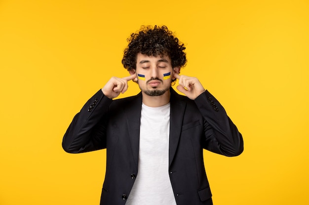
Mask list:
[[243,139],[218,100],[203,88],[195,77],[180,76],[177,89],[194,100],[204,119],[203,147],[225,156],[237,156],[243,151]]

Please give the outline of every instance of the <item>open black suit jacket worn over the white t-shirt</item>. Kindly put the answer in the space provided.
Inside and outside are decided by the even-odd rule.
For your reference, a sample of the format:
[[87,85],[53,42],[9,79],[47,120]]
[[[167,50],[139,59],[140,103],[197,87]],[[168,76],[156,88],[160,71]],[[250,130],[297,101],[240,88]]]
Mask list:
[[[212,205],[203,148],[226,156],[243,140],[206,90],[195,100],[170,89],[169,176],[177,205]],[[62,146],[70,153],[107,148],[101,205],[124,205],[138,176],[142,94],[111,100],[99,90],[74,117]]]

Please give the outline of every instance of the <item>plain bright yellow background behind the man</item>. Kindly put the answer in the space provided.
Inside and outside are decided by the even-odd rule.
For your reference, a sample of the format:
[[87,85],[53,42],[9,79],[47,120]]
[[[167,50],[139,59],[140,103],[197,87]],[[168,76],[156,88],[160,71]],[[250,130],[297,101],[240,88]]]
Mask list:
[[243,134],[239,157],[204,152],[214,204],[308,205],[308,0],[0,0],[0,205],[99,204],[106,151],[62,137],[149,24],[176,31],[181,74]]

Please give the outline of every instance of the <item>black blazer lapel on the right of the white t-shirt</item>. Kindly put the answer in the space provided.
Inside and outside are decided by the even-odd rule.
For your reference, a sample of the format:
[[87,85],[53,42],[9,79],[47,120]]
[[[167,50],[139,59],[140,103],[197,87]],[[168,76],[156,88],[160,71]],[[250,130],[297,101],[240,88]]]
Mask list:
[[186,103],[180,99],[180,95],[172,88],[170,89],[170,92],[171,113],[169,131],[169,167],[172,164],[177,150],[186,108]]

